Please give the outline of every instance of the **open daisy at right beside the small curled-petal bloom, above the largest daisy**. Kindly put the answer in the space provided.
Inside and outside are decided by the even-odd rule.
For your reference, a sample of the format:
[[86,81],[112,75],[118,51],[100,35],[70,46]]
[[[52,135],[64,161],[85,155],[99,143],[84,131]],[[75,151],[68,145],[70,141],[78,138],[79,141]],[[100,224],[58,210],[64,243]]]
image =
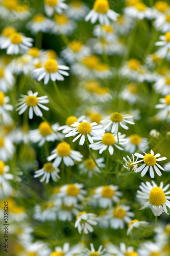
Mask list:
[[[144,153],[144,152],[143,152],[143,153]],[[163,168],[162,166],[160,166],[160,165],[157,163],[157,161],[166,160],[166,157],[158,158],[158,157],[160,157],[160,154],[159,154],[159,153],[154,156],[153,150],[151,150],[151,154],[147,154],[147,153],[144,153],[144,154],[145,154],[144,156],[141,155],[141,154],[139,154],[139,153],[135,153],[135,154],[134,154],[136,157],[142,158],[142,160],[135,161],[135,163],[144,162],[141,166],[139,166],[139,167],[137,168],[136,173],[142,171],[142,172],[141,172],[141,177],[143,177],[143,176],[147,173],[147,171],[148,171],[148,169],[149,169],[149,170],[150,170],[150,176],[151,176],[151,178],[154,178],[154,177],[155,177],[154,169],[155,169],[155,172],[157,173],[157,175],[158,175],[158,176],[161,176],[162,174],[161,174],[159,168],[162,169],[162,170],[164,170],[164,168]],[[159,168],[158,168],[157,166],[158,166]],[[153,169],[153,167],[154,167],[154,169]]]

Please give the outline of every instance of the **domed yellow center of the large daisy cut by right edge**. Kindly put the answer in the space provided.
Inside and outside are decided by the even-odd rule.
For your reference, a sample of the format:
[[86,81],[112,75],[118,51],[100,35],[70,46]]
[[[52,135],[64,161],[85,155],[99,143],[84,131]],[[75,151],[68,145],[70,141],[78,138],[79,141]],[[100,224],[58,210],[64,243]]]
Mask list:
[[150,204],[154,206],[162,205],[166,202],[165,194],[160,187],[152,188],[149,197]]

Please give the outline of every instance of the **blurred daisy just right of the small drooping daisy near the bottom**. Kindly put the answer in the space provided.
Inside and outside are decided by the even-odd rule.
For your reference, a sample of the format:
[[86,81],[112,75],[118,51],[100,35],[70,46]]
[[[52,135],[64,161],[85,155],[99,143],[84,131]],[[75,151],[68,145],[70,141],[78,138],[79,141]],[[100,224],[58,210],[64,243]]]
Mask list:
[[131,217],[134,217],[134,213],[129,211],[130,206],[117,205],[113,209],[107,211],[110,227],[113,229],[124,229],[125,223],[131,221]]

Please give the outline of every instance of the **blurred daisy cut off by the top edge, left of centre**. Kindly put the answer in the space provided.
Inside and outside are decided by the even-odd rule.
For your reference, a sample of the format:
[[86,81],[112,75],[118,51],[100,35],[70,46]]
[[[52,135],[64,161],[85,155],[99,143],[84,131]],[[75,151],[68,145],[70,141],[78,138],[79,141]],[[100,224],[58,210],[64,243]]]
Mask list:
[[63,10],[67,9],[67,4],[63,3],[65,0],[44,0],[44,9],[47,16],[52,17],[54,12],[61,14]]

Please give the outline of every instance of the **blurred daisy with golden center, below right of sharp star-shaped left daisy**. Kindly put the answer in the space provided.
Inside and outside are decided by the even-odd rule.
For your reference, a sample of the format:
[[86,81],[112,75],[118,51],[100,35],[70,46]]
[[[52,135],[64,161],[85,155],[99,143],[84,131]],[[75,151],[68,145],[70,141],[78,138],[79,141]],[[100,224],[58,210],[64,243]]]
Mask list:
[[59,127],[58,123],[54,123],[50,126],[47,122],[43,121],[39,124],[38,129],[33,131],[29,131],[30,140],[33,143],[38,143],[38,146],[42,146],[45,141],[55,141],[63,139],[63,134],[57,133],[57,129]]

